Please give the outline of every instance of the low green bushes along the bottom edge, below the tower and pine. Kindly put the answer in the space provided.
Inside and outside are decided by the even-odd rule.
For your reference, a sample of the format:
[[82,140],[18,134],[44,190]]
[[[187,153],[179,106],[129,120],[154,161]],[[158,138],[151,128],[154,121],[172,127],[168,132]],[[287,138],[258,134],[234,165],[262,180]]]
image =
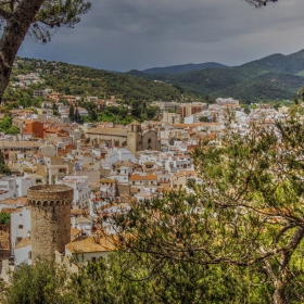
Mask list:
[[[152,262],[152,264],[151,264]],[[148,254],[115,252],[89,263],[79,274],[52,262],[22,265],[11,274],[1,303],[261,303],[270,301],[267,287],[251,287],[255,278],[231,266],[173,263]],[[130,268],[131,266],[131,268]]]

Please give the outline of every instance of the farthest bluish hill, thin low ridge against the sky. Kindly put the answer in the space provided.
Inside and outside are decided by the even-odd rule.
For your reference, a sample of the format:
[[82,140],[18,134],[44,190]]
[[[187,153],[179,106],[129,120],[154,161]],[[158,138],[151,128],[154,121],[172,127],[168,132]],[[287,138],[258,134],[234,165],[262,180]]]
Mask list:
[[145,74],[170,74],[170,75],[176,75],[176,74],[183,74],[188,72],[193,72],[193,71],[200,71],[200,69],[205,69],[208,67],[227,67],[224,64],[216,63],[216,62],[206,62],[206,63],[200,63],[200,64],[181,64],[181,65],[173,65],[173,66],[166,66],[166,67],[152,67],[148,69],[141,71],[142,73]]

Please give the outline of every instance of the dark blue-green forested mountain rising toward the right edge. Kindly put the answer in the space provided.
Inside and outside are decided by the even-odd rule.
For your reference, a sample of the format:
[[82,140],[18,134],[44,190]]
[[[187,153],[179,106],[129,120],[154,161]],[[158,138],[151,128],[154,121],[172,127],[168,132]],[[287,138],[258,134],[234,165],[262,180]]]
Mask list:
[[178,75],[136,71],[129,74],[178,85],[203,96],[232,97],[246,102],[292,99],[304,86],[304,50],[290,55],[273,54],[229,68],[205,68]]

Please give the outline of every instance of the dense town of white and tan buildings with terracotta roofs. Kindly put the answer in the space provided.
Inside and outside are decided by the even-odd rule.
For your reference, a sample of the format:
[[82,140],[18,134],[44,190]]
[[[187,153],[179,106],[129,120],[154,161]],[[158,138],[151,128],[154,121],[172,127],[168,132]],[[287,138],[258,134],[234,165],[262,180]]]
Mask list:
[[[40,72],[37,67],[37,73],[18,75],[12,87],[43,84]],[[71,109],[81,119],[89,115],[78,106],[79,97],[52,89],[34,90],[33,99],[37,97],[43,98],[40,107],[20,106],[1,114],[1,118],[10,115],[17,130],[0,134],[0,151],[10,172],[0,179],[0,214],[10,217],[9,226],[0,226],[3,280],[9,279],[9,269],[23,263],[31,265],[38,255],[54,254],[58,263],[75,273],[89,261],[106,257],[114,245],[104,236],[116,233],[112,214],[127,213],[132,204],[162,198],[170,190],[190,192],[189,183],[201,182],[191,152],[203,140],[219,147],[228,123],[236,132],[246,135],[253,125],[271,127],[289,113],[287,106],[275,110],[267,104],[244,109],[232,98],[218,98],[214,103],[154,101],[152,106],[159,113],[153,121],[79,124],[71,119]],[[83,98],[86,102],[94,103],[98,112],[119,105],[115,96]],[[54,198],[53,190],[48,190],[50,186],[59,189]],[[73,189],[71,198],[65,187]],[[37,193],[42,199],[37,200]],[[42,239],[34,237],[47,225],[39,211],[41,207],[48,213],[49,207],[65,202],[61,198],[64,193],[68,205],[58,211],[60,245],[47,250],[52,238],[49,232],[45,231]],[[75,263],[79,253],[81,261]]]

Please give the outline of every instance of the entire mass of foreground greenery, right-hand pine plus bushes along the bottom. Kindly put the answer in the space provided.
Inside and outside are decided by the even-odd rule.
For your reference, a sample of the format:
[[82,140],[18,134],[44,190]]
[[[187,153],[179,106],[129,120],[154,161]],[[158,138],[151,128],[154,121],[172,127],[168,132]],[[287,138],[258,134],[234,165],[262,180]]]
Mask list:
[[218,145],[203,140],[193,151],[197,182],[113,215],[119,250],[107,261],[65,284],[41,270],[47,290],[23,266],[7,303],[39,303],[20,299],[49,290],[56,303],[303,303],[302,117],[296,104],[240,135],[231,116]]

